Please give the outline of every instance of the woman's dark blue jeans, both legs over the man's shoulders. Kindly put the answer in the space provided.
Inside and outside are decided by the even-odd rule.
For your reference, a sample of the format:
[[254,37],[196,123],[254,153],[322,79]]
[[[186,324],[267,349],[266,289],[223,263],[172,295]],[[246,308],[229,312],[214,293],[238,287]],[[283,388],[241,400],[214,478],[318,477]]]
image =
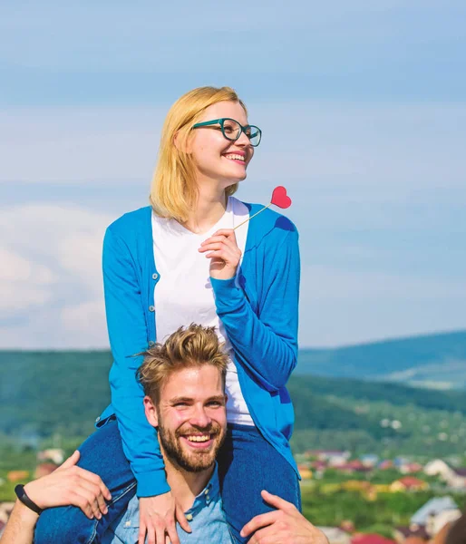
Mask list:
[[[114,419],[94,432],[79,450],[78,465],[99,474],[112,493],[109,511],[102,520],[89,520],[74,506],[44,510],[35,528],[34,544],[99,544],[105,530],[136,494],[136,480]],[[218,455],[218,476],[223,507],[238,542],[247,541],[239,531],[249,520],[274,510],[262,500],[261,490],[279,495],[301,510],[296,472],[256,427],[228,424],[227,438]]]

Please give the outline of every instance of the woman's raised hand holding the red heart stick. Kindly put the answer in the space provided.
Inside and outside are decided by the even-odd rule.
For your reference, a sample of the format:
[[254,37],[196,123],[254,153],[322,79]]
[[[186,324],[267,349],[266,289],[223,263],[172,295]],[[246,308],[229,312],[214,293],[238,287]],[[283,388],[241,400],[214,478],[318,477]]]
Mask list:
[[236,276],[241,250],[232,228],[222,228],[202,242],[199,253],[206,253],[206,257],[211,259],[210,277],[230,279]]

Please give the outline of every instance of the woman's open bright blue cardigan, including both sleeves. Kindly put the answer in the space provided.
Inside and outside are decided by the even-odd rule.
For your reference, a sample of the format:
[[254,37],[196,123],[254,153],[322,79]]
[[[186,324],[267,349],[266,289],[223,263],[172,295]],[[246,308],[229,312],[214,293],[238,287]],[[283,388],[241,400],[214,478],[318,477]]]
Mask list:
[[[246,204],[249,214],[262,206]],[[123,450],[138,482],[139,497],[170,490],[144,393],[135,374],[140,354],[156,342],[154,263],[150,207],[123,215],[103,241],[103,285],[112,347],[112,404],[97,425],[116,414]],[[296,227],[266,209],[249,223],[237,277],[210,278],[217,313],[233,346],[238,380],[257,428],[295,468],[289,447],[294,411],[286,381],[296,366],[299,296]]]

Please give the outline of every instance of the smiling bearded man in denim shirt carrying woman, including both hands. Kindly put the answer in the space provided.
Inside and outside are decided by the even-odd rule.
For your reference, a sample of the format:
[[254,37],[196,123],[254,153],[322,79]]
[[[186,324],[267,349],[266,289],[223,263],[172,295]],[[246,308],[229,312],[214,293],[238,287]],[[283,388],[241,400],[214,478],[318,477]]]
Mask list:
[[[164,345],[151,348],[139,371],[146,393],[146,416],[158,429],[167,481],[190,524],[190,533],[178,526],[181,544],[232,542],[221,507],[215,461],[227,428],[226,369],[227,358],[213,328],[190,325],[170,335]],[[35,504],[41,508],[73,504],[88,517],[105,514],[110,493],[98,476],[73,466],[78,455],[73,454],[53,474],[25,486]],[[76,496],[70,494],[74,491]],[[325,536],[294,505],[267,491],[262,497],[277,510],[257,516],[245,526],[244,536],[254,533],[251,544],[326,543]],[[1,544],[31,544],[37,518],[17,502]],[[143,541],[138,524],[138,500],[134,498],[107,529],[102,543]],[[160,544],[165,536],[155,529]]]

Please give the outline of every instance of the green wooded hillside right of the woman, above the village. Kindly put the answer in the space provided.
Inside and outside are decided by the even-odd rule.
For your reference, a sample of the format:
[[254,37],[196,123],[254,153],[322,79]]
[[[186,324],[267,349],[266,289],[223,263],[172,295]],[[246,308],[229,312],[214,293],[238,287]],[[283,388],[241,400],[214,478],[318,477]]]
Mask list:
[[346,378],[294,376],[292,445],[446,457],[466,451],[466,393]]

